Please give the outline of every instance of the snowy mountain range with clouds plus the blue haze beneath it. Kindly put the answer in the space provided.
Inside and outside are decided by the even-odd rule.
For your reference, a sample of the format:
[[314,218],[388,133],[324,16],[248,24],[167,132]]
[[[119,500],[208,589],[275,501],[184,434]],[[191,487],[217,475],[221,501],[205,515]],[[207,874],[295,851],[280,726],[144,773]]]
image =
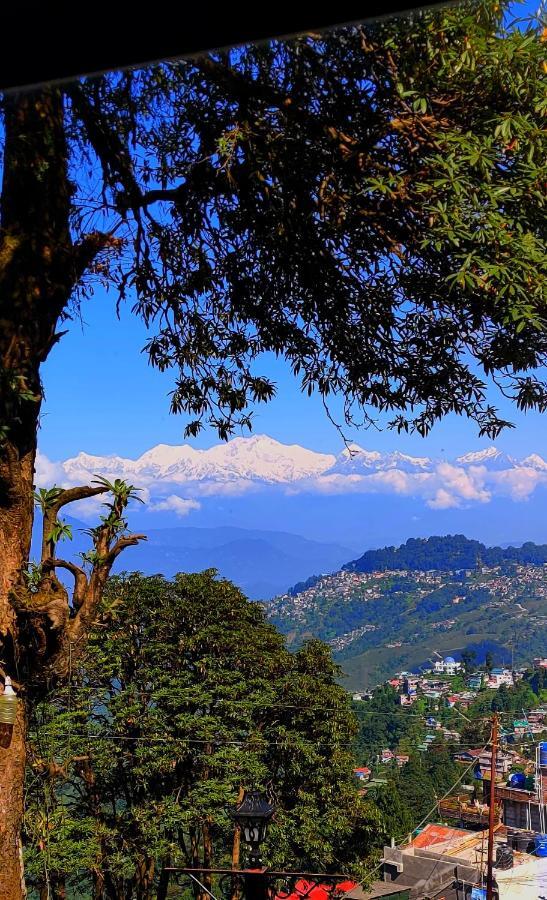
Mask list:
[[[497,545],[546,542],[545,459],[493,446],[453,459],[357,444],[336,455],[255,435],[207,450],[158,444],[137,459],[81,452],[54,462],[39,454],[36,484],[84,484],[98,474],[125,478],[145,501],[129,510],[133,529],[149,533],[188,520],[200,529],[290,532],[348,547],[347,560],[368,548],[443,532]],[[84,501],[71,514],[93,522],[99,505]],[[300,576],[291,566],[284,586],[329,565],[330,559],[307,571],[302,566]]]

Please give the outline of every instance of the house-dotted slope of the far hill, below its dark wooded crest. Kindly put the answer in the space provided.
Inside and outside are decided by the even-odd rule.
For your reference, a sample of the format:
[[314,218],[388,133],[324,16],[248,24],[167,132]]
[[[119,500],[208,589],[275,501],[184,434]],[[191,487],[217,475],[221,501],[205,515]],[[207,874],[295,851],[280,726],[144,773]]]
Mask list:
[[482,634],[507,648],[504,662],[524,663],[541,652],[547,627],[547,563],[485,566],[479,558],[464,569],[343,569],[310,578],[266,609],[289,645],[313,635],[341,661],[384,648],[386,666],[400,659],[415,667],[432,659],[436,642],[450,650]]

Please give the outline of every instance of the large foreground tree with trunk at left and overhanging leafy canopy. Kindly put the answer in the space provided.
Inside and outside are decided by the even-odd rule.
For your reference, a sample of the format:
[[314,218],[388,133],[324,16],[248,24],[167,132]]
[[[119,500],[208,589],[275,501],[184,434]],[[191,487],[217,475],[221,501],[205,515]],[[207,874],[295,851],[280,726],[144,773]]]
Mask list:
[[[113,284],[195,434],[250,425],[283,355],[345,419],[426,433],[544,409],[545,44],[505,4],[431,12],[4,98],[0,633],[29,556],[41,365]],[[83,639],[83,638],[82,638]],[[32,642],[31,642],[32,644]],[[30,662],[24,663],[29,669]],[[24,686],[23,686],[24,687]],[[2,751],[0,896],[20,896],[24,722]]]

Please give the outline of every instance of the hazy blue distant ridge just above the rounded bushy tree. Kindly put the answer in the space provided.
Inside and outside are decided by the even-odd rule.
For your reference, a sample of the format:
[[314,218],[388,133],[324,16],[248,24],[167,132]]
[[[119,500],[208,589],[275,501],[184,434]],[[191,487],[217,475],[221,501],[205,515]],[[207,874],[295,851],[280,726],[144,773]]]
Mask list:
[[[82,522],[67,517],[73,541],[59,548],[61,556],[74,559],[88,549]],[[269,600],[310,572],[333,572],[351,551],[335,543],[311,541],[298,534],[245,528],[146,529],[148,540],[128,548],[118,559],[116,570],[133,569],[145,574],[198,572],[214,568],[229,578],[252,600]],[[35,552],[37,550],[35,535]]]

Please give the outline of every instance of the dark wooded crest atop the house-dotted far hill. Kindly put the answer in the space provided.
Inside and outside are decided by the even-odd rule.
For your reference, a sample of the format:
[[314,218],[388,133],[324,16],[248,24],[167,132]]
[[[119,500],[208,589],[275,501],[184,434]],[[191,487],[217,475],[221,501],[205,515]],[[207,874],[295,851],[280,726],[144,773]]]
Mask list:
[[478,565],[499,566],[504,563],[540,566],[547,562],[547,544],[527,541],[521,547],[486,547],[463,534],[443,537],[409,538],[400,547],[367,550],[359,559],[346,563],[348,572],[450,572],[474,569]]

